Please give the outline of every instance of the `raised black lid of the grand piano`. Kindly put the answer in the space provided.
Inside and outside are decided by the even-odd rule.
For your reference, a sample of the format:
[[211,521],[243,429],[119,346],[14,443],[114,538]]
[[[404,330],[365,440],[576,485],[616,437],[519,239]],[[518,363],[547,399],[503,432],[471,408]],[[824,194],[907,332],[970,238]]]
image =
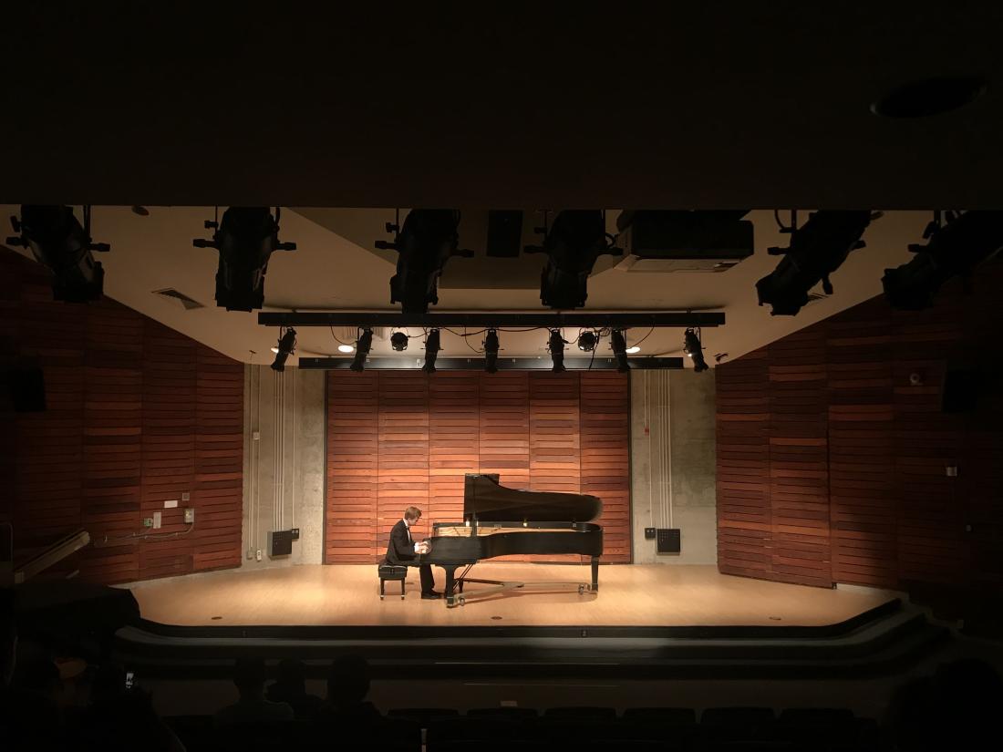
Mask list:
[[588,522],[603,511],[603,502],[587,493],[526,491],[498,485],[496,473],[466,473],[463,517],[478,522]]

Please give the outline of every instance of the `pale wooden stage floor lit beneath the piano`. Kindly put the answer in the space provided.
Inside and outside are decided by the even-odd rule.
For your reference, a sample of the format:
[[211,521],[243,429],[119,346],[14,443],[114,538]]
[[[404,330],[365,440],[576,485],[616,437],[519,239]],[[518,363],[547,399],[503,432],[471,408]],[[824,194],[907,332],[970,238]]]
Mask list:
[[[436,587],[444,577],[433,569]],[[887,591],[822,590],[721,575],[716,567],[611,565],[599,572],[600,592],[510,592],[447,609],[422,601],[418,573],[386,584],[380,601],[373,565],[308,565],[206,573],[128,587],[143,619],[161,624],[219,626],[382,627],[820,627],[845,622],[893,600]],[[482,563],[485,580],[589,582],[588,566]],[[466,594],[478,587],[470,584]]]

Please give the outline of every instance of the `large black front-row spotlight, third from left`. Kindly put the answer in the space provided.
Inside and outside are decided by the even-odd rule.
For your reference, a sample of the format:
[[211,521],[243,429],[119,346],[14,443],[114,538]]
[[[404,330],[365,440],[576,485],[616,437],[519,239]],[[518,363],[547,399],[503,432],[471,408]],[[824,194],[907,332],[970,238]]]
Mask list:
[[397,274],[390,278],[390,303],[400,303],[404,313],[427,313],[438,303],[438,278],[453,256],[469,259],[472,251],[459,250],[459,212],[451,209],[412,209],[404,227],[387,223],[395,233],[393,243],[377,241],[376,248],[398,252]]

